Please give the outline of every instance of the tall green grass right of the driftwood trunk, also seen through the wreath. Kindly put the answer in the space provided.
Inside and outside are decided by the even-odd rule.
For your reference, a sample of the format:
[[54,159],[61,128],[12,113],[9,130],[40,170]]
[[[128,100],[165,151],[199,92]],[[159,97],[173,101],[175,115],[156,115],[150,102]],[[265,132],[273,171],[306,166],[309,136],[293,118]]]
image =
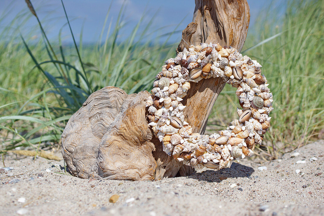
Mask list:
[[[275,12],[261,22],[259,19],[255,25],[256,32],[261,35],[250,34],[245,47],[252,48],[246,51],[243,48],[243,54],[256,59],[263,66],[262,74],[266,75],[273,93],[272,126],[265,135],[265,147],[262,147],[264,153],[273,158],[309,140],[323,138],[320,136],[324,128],[322,3],[288,2],[282,25],[274,25],[271,16],[279,16]],[[260,45],[253,46],[257,41],[260,41]],[[220,121],[214,120],[212,124],[226,125],[223,119],[237,118],[231,111],[233,109],[227,109],[240,107],[234,91],[231,87],[224,89],[216,101],[217,109],[211,115],[211,119],[219,117]]]

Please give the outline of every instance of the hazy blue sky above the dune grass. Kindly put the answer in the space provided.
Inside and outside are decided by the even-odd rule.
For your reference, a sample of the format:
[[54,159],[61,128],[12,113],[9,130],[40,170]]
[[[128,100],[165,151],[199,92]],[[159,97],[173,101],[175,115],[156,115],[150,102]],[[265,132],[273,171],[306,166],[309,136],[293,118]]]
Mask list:
[[[60,0],[44,1],[31,0],[36,12],[42,22],[45,30],[51,39],[57,39],[58,32],[66,23],[64,11]],[[102,30],[104,20],[111,4],[110,16],[108,18],[107,27],[110,21],[112,24],[116,22],[121,5],[126,2],[125,17],[126,28],[121,32],[120,39],[127,37],[136,23],[144,14],[143,24],[153,19],[151,32],[161,35],[173,30],[183,30],[191,21],[194,11],[194,0],[164,0],[164,1],[142,1],[142,0],[64,0],[64,6],[68,17],[71,19],[72,30],[79,40],[81,28],[83,26],[83,42],[98,42],[100,32]],[[248,0],[250,6],[250,29],[256,21],[260,11],[266,10],[269,1],[267,0]],[[0,28],[8,26],[9,23],[19,12],[26,12],[27,4],[24,0],[1,0],[0,5],[1,17],[7,13],[6,18],[0,19]],[[23,19],[24,20],[24,19]],[[20,21],[14,24],[17,28]],[[24,35],[37,24],[35,17],[30,17],[20,31]],[[178,26],[178,27],[177,27]],[[163,30],[157,30],[164,27]],[[106,28],[107,30],[107,28]],[[105,31],[106,31],[105,30]],[[141,29],[140,29],[141,30]],[[157,30],[157,31],[156,31]],[[1,31],[0,31],[1,32]],[[176,42],[180,39],[181,33],[172,36],[169,41]],[[69,29],[63,29],[64,42],[72,42],[69,36]],[[35,38],[39,37],[39,32],[35,31]]]

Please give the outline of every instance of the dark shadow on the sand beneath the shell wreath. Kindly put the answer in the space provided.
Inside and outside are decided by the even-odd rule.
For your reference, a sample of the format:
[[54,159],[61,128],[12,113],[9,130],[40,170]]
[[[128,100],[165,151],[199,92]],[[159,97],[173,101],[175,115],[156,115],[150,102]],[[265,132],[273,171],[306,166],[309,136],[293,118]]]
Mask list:
[[[191,174],[188,177],[199,181],[217,182],[220,183],[226,178],[249,177],[254,172],[254,169],[239,163],[232,163],[230,168],[221,170],[208,169],[202,172]],[[221,177],[221,178],[220,178]]]

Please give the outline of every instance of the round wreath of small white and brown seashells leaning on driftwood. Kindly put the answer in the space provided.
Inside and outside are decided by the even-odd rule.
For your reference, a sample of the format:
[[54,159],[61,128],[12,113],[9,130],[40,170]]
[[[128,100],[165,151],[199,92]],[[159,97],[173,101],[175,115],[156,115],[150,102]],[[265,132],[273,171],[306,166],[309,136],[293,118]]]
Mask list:
[[[154,135],[163,142],[163,150],[183,164],[202,169],[230,167],[236,158],[251,156],[255,144],[261,144],[269,129],[272,93],[261,65],[242,56],[231,46],[201,43],[184,48],[177,57],[165,61],[156,75],[152,95],[146,100],[148,121]],[[192,133],[185,121],[181,101],[190,82],[223,78],[237,88],[236,95],[243,110],[237,108],[238,119],[226,130],[210,136]]]

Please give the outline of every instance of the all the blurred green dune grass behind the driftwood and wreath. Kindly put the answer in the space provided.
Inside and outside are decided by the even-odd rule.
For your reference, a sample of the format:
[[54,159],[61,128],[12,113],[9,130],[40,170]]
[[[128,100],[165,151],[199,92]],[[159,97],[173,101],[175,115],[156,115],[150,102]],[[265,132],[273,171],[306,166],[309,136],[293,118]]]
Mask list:
[[[260,148],[268,157],[275,158],[311,139],[323,138],[322,3],[301,1],[298,5],[291,1],[281,25],[274,25],[273,17],[277,16],[272,12],[258,20],[253,34],[246,39],[242,52],[263,66],[262,73],[274,95],[272,127]],[[59,41],[51,42],[43,28],[42,38],[37,42],[32,34],[19,35],[18,30],[13,33],[15,37],[4,40],[9,35],[5,35],[6,31],[0,32],[3,35],[0,39],[2,153],[19,146],[34,150],[57,146],[71,114],[95,90],[109,85],[127,93],[151,89],[163,62],[174,56],[177,43],[169,44],[166,40],[161,44],[159,38],[151,38],[151,23],[139,32],[141,21],[125,41],[117,42],[118,35],[125,29],[123,9],[124,6],[114,26],[108,24],[108,11],[95,45],[81,42],[64,46],[61,32],[58,32]],[[19,16],[24,16],[25,20],[38,19],[37,10],[33,15],[25,12]],[[41,26],[42,22],[39,24]],[[67,23],[65,28],[69,25]],[[72,31],[71,36],[74,37]],[[105,38],[104,43],[100,43],[101,38]],[[235,108],[239,105],[234,92],[230,86],[222,91],[206,132],[224,129],[216,125],[226,126],[228,119],[237,118]]]

